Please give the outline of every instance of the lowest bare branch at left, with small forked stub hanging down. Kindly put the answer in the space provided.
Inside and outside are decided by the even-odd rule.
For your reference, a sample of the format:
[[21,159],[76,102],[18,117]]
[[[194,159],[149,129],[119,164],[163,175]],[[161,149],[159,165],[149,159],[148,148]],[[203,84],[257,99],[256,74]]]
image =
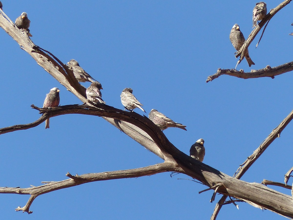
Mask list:
[[88,182],[150,176],[157,173],[175,171],[175,170],[178,171],[180,169],[174,167],[172,163],[165,162],[165,163],[159,163],[156,165],[151,165],[148,167],[142,167],[137,169],[117,170],[117,171],[101,172],[101,173],[88,173],[88,174],[78,175],[78,176],[72,176],[70,173],[67,173],[66,176],[69,176],[70,179],[56,181],[56,182],[49,182],[45,185],[30,187],[30,188],[0,187],[0,193],[31,195],[27,204],[24,207],[18,207],[15,209],[16,211],[23,211],[23,212],[27,212],[28,214],[31,214],[33,212],[30,211],[29,209],[31,204],[33,203],[33,200],[39,195],[42,195],[48,192],[56,191],[59,189],[65,189],[68,187],[78,186]]

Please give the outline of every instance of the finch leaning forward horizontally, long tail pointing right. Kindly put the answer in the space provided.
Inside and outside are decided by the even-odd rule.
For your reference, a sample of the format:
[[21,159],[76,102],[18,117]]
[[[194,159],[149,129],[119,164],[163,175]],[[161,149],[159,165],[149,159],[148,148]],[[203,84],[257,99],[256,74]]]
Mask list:
[[185,131],[186,126],[180,123],[176,123],[173,120],[169,119],[166,115],[162,114],[161,112],[157,111],[156,109],[152,109],[149,113],[149,119],[154,122],[156,126],[158,126],[162,131],[170,128],[181,128]]

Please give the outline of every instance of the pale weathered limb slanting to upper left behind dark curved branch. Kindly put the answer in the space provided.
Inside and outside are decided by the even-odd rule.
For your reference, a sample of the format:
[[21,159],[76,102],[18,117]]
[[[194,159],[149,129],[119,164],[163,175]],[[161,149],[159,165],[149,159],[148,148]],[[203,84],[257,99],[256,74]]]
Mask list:
[[[77,98],[79,98],[82,103],[87,103],[86,99],[86,88],[77,83],[72,70],[69,70],[66,65],[61,65],[62,62],[49,51],[36,46],[26,33],[20,31],[15,24],[4,14],[3,11],[0,11],[0,27],[6,31],[16,42],[24,49],[33,59],[44,68],[52,77],[57,79],[60,84],[62,84],[66,89],[72,92]],[[46,53],[45,53],[45,52]],[[50,55],[48,55],[49,53]],[[64,68],[63,68],[64,67]],[[71,72],[70,72],[71,71]],[[68,81],[69,80],[69,81]],[[88,103],[91,105],[90,103]],[[134,141],[137,141],[139,144],[147,148],[152,145],[152,148],[157,148],[153,140],[149,138],[149,135],[145,133],[142,129],[134,126],[131,123],[106,118],[103,117],[106,121],[110,122],[112,125],[120,129],[122,132],[130,136]],[[36,121],[34,126],[37,126],[38,123],[42,123],[43,119]],[[21,125],[25,126],[25,125]],[[13,128],[11,128],[13,129]],[[159,153],[158,153],[159,154]],[[162,156],[162,155],[161,155]]]

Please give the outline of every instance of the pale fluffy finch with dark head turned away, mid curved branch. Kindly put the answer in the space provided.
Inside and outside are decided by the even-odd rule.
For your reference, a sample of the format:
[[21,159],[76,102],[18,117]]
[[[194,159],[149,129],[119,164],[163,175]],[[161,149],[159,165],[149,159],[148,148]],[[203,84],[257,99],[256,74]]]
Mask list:
[[[144,109],[141,107],[143,104],[141,104],[135,96],[132,94],[133,90],[131,88],[125,88],[122,90],[120,98],[121,98],[121,103],[124,106],[125,109],[128,111],[133,111],[135,108],[139,108],[142,111]],[[146,111],[144,111],[146,112]]]

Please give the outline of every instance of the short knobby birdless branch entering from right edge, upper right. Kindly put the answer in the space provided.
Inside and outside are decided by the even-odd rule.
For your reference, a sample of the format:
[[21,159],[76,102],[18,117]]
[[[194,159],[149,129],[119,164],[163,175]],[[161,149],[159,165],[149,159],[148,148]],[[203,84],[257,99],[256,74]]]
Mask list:
[[285,72],[290,72],[292,70],[293,70],[293,61],[282,64],[277,67],[266,66],[265,68],[260,70],[251,70],[251,72],[243,72],[243,70],[238,71],[235,69],[218,69],[218,71],[214,75],[207,77],[206,82],[210,82],[214,79],[217,79],[219,76],[222,76],[222,75],[235,76],[241,79],[253,79],[253,78],[260,78],[260,77],[270,77],[274,79],[275,76],[281,75]]

